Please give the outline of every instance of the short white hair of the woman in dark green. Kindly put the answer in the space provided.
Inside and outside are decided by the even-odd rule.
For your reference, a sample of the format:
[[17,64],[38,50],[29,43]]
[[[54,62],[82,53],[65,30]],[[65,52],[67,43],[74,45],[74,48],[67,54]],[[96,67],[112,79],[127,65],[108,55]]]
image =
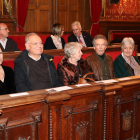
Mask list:
[[135,46],[135,42],[133,40],[133,38],[131,37],[125,37],[121,43],[121,49],[123,49],[123,46],[126,45],[126,44],[129,44],[129,45],[132,45],[133,46],[133,49],[134,49],[134,46]]

